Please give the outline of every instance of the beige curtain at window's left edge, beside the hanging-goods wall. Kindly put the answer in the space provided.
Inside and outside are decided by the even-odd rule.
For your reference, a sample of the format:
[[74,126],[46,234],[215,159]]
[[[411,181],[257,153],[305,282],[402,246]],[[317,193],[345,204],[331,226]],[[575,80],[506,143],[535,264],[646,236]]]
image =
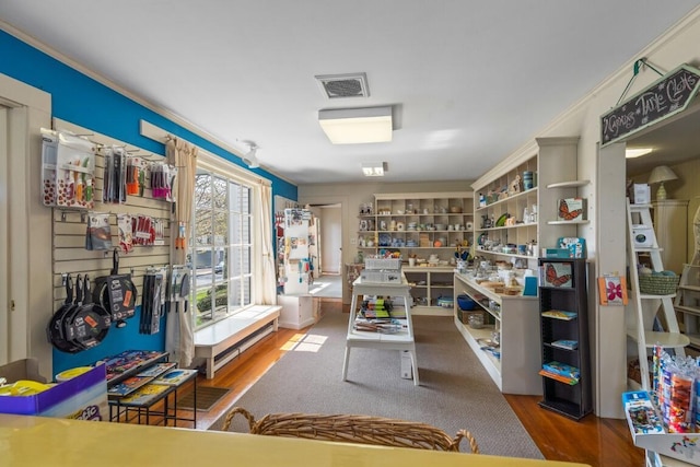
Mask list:
[[[173,190],[175,211],[171,225],[171,264],[186,265],[191,234],[192,202],[195,194],[195,174],[197,172],[197,148],[177,138],[168,137],[165,144],[167,163],[177,167],[177,177]],[[180,229],[184,226],[184,229]],[[175,247],[175,240],[180,246]],[[188,280],[194,280],[189,277]],[[191,310],[191,307],[187,307]],[[192,312],[170,312],[166,323],[165,350],[171,361],[179,366],[189,366],[195,357],[192,334]]]

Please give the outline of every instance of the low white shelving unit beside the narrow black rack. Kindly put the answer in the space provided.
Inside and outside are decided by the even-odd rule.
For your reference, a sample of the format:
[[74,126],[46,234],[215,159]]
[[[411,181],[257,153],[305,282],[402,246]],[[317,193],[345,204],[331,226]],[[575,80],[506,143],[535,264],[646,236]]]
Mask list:
[[[541,395],[539,302],[536,296],[501,295],[464,275],[454,276],[454,295],[466,293],[494,325],[471,328],[458,317],[455,300],[455,326],[477,355],[499,389],[505,394]],[[491,305],[497,305],[492,307]],[[500,332],[500,357],[482,350],[492,332]]]

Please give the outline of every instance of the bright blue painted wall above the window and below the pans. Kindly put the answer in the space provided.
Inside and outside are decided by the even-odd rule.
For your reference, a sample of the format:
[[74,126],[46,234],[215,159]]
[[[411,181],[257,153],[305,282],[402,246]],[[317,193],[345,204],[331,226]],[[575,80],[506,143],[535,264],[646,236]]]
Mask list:
[[[165,154],[163,144],[139,133],[141,119],[186,139],[197,147],[242,167],[240,157],[221,149],[172,120],[150,110],[116,91],[54,59],[16,37],[0,31],[0,73],[51,94],[52,116],[116,138],[155,154]],[[108,78],[108,77],[107,77]],[[183,116],[185,119],[187,116]],[[260,168],[252,170],[272,182],[272,196],[298,199],[296,186]],[[140,307],[139,307],[140,308]],[[138,334],[138,316],[126,327],[112,327],[106,339],[91,350],[68,354],[54,351],[54,373],[84,365],[127,349],[162,350],[165,322],[154,336]]]

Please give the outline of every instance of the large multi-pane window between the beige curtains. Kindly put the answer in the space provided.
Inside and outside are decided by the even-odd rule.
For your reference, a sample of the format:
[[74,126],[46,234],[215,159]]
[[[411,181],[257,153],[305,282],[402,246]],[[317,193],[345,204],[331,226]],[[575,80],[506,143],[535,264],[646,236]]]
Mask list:
[[199,167],[195,177],[190,261],[195,329],[252,304],[252,184]]

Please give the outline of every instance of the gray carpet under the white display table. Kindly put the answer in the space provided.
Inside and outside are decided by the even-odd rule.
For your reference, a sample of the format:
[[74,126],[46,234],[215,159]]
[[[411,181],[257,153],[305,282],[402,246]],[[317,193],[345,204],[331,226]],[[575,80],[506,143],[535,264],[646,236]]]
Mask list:
[[[544,456],[450,317],[416,316],[419,387],[399,375],[398,351],[353,349],[341,381],[348,314],[326,313],[234,404],[256,418],[270,412],[361,413],[466,429],[482,454]],[[210,429],[220,429],[223,418]],[[247,432],[243,417],[231,431]],[[468,446],[462,443],[462,450]]]

